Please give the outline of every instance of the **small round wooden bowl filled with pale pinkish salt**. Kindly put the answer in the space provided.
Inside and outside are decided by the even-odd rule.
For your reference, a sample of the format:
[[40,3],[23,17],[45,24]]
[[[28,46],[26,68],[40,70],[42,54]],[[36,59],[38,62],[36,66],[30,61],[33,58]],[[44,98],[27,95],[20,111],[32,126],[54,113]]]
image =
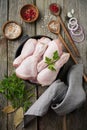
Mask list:
[[7,39],[18,38],[22,33],[22,28],[15,21],[8,21],[3,26],[3,34]]

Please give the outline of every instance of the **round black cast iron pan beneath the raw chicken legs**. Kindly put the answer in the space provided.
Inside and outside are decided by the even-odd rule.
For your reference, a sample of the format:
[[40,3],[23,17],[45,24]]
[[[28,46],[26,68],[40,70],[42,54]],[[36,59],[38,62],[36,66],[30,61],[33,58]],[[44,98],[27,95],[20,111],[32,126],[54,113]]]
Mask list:
[[[19,42],[21,43],[20,46],[18,47],[16,54],[15,54],[15,58],[18,57],[21,54],[21,50],[25,44],[25,42],[30,39],[30,38],[34,38],[34,39],[40,39],[41,37],[47,37],[49,39],[52,40],[52,38],[48,37],[48,36],[44,36],[44,35],[37,35],[37,36],[32,36],[29,37],[28,35],[24,35]],[[69,67],[72,65],[71,60],[69,60],[59,71],[58,76],[56,79],[61,79],[61,81],[66,82],[66,77],[67,77],[67,71],[69,69]],[[31,83],[30,81],[28,81],[29,83]],[[31,83],[31,84],[36,84],[36,83]]]

